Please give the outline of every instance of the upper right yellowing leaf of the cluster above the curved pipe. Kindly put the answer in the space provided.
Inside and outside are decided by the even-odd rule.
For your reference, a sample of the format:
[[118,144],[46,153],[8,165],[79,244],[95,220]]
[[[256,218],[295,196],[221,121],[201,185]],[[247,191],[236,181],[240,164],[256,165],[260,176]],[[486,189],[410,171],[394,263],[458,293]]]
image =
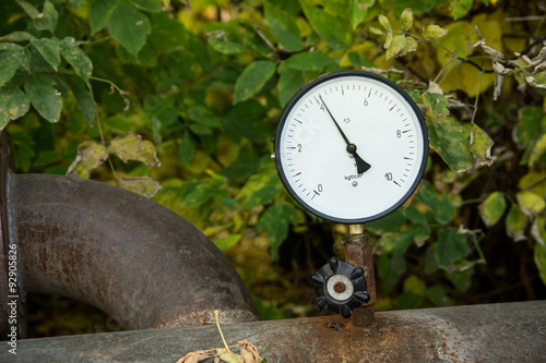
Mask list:
[[129,160],[140,161],[149,167],[161,166],[154,144],[133,132],[124,136],[116,137],[108,147],[111,154],[117,155],[123,162]]

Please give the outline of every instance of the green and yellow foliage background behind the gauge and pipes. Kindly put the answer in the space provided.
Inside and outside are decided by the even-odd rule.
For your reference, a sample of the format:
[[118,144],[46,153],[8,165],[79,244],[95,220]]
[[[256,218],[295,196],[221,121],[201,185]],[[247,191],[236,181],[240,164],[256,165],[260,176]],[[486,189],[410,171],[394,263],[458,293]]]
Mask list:
[[[153,196],[225,252],[263,318],[311,316],[324,312],[309,276],[343,257],[347,230],[290,199],[270,140],[306,82],[380,73],[422,108],[430,157],[411,203],[366,226],[376,308],[545,299],[545,12],[544,0],[3,1],[0,126],[17,172]],[[116,329],[90,306],[31,297],[31,336]]]

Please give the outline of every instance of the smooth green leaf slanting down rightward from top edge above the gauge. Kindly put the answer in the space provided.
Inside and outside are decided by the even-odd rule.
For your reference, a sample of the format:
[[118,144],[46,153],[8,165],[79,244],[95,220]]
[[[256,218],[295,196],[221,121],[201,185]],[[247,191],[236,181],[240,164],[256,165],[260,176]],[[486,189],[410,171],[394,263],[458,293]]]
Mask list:
[[300,0],[301,9],[312,29],[333,49],[346,49],[353,44],[353,32],[348,23],[325,10],[314,8]]

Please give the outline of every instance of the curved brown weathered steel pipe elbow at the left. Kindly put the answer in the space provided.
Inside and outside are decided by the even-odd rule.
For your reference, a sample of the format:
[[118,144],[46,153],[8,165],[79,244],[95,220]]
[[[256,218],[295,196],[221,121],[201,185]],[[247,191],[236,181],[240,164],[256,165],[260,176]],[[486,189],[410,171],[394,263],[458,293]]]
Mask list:
[[3,211],[16,244],[21,299],[31,292],[73,298],[126,329],[200,324],[214,320],[214,310],[232,323],[259,318],[227,258],[168,208],[92,180],[5,178]]

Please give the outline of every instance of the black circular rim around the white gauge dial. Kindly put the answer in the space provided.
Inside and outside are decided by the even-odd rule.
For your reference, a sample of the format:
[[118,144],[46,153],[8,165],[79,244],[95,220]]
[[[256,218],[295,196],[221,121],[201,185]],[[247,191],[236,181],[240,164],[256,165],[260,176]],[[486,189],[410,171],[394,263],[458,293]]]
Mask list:
[[276,134],[281,135],[281,132],[282,132],[282,130],[283,130],[283,128],[284,128],[284,125],[286,123],[286,118],[288,117],[290,110],[294,108],[294,106],[296,105],[296,102],[301,97],[304,97],[309,90],[311,90],[312,88],[314,88],[317,85],[319,85],[321,83],[331,81],[333,78],[346,77],[346,76],[360,76],[360,77],[371,78],[371,80],[378,81],[380,83],[383,83],[384,85],[387,85],[390,88],[392,88],[394,92],[399,93],[407,101],[407,104],[410,105],[410,107],[413,109],[413,111],[417,116],[417,120],[418,120],[418,122],[420,124],[422,132],[423,132],[423,140],[424,140],[423,158],[422,158],[422,164],[420,164],[420,167],[419,167],[419,171],[417,173],[417,178],[413,182],[413,184],[410,187],[410,190],[407,191],[407,193],[399,202],[396,202],[392,207],[390,207],[389,209],[385,209],[385,210],[383,210],[383,211],[381,211],[381,213],[379,213],[377,215],[373,215],[371,217],[356,218],[356,219],[346,219],[346,218],[336,218],[334,216],[329,216],[329,215],[325,215],[325,214],[323,214],[323,213],[321,213],[319,210],[316,210],[311,206],[309,206],[292,189],[290,184],[288,183],[288,180],[286,179],[286,174],[284,172],[283,165],[281,162],[281,158],[278,157],[281,155],[281,152],[280,152],[281,137],[275,137],[274,153],[276,155],[276,157],[275,157],[275,165],[276,165],[277,173],[278,173],[278,176],[281,178],[281,181],[283,182],[284,186],[286,187],[286,190],[288,191],[288,193],[290,194],[290,196],[301,207],[304,207],[305,209],[307,209],[309,213],[313,214],[314,216],[320,217],[320,218],[325,219],[325,220],[330,220],[330,221],[333,221],[333,222],[336,222],[336,223],[344,223],[344,225],[357,225],[357,223],[370,222],[370,221],[380,219],[382,217],[385,217],[387,215],[389,215],[392,211],[396,210],[400,206],[402,206],[410,198],[410,196],[412,196],[412,194],[417,189],[417,185],[420,183],[423,174],[425,173],[425,168],[427,166],[427,158],[428,158],[428,132],[427,132],[427,126],[425,124],[425,120],[423,118],[423,114],[420,113],[419,108],[417,107],[417,105],[415,104],[415,101],[412,99],[412,97],[410,97],[410,95],[402,87],[400,87],[397,84],[395,84],[394,82],[392,82],[392,81],[390,81],[390,80],[388,80],[388,78],[385,78],[383,76],[380,76],[380,75],[373,74],[373,73],[369,73],[369,72],[364,72],[364,71],[340,71],[340,72],[324,74],[324,75],[322,75],[322,76],[320,76],[320,77],[318,77],[318,78],[309,82],[304,87],[301,87],[292,97],[292,99],[288,101],[288,104],[286,104],[286,106],[284,107],[282,116],[281,116],[281,120],[278,121],[278,126],[277,126]]

